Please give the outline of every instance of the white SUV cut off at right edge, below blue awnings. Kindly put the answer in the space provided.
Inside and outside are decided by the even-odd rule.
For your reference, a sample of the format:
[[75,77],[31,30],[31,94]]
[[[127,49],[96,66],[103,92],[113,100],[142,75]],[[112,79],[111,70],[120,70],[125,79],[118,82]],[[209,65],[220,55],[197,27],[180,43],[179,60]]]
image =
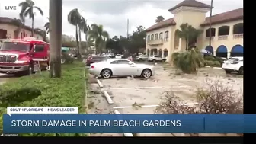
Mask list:
[[222,64],[222,69],[226,73],[238,72],[238,75],[244,74],[244,57],[231,57],[225,60]]

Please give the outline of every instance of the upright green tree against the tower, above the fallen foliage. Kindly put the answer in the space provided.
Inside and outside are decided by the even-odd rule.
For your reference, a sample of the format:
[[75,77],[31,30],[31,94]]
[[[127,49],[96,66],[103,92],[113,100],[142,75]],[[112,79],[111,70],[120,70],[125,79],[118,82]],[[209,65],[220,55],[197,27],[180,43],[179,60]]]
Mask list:
[[194,46],[197,41],[197,37],[203,32],[203,30],[196,29],[189,24],[181,24],[181,30],[177,30],[178,37],[186,40],[186,50]]

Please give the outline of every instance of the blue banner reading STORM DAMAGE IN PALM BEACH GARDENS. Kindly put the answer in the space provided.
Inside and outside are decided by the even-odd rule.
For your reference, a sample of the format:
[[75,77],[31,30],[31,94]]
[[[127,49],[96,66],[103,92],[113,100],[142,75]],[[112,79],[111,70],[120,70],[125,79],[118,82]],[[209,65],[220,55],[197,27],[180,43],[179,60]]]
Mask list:
[[4,114],[4,133],[256,133],[256,114]]

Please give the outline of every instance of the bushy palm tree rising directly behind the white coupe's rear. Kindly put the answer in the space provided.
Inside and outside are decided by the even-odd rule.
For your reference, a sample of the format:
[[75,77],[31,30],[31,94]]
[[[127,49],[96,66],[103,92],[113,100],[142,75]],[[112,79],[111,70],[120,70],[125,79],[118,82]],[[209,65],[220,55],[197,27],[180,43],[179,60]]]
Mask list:
[[102,25],[91,24],[91,30],[88,32],[88,36],[94,39],[96,54],[98,52],[101,53],[106,47],[106,41],[109,38],[107,31],[103,30]]

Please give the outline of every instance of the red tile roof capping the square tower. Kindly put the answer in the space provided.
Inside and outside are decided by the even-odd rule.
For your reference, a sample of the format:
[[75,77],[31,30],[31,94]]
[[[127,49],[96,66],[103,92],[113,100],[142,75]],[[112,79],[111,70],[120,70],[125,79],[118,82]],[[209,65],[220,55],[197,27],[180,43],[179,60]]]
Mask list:
[[173,11],[174,9],[180,8],[182,6],[185,7],[195,7],[195,8],[211,8],[210,5],[206,5],[203,2],[197,2],[195,0],[184,0],[183,2],[175,5],[173,8],[170,8],[168,11]]

